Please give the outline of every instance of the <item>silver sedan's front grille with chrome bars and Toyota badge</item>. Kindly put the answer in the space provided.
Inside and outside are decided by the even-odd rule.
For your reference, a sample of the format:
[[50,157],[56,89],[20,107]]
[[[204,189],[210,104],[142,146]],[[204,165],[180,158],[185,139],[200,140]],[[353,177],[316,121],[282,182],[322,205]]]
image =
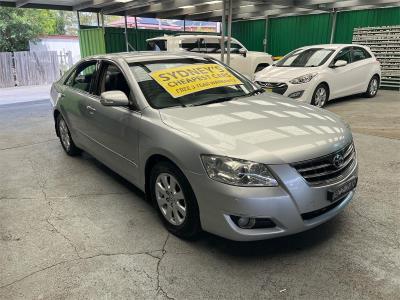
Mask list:
[[[336,165],[334,160],[340,159],[342,163]],[[339,157],[339,159],[338,159]],[[345,178],[356,164],[356,152],[353,143],[343,149],[319,158],[302,161],[292,166],[303,176],[310,185],[324,185]]]

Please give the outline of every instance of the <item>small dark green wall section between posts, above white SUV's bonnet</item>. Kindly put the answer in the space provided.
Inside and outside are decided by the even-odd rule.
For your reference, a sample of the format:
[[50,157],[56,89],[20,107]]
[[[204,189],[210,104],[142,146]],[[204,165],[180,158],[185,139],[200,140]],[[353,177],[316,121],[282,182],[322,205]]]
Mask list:
[[239,40],[247,49],[263,52],[265,20],[233,22],[232,36]]

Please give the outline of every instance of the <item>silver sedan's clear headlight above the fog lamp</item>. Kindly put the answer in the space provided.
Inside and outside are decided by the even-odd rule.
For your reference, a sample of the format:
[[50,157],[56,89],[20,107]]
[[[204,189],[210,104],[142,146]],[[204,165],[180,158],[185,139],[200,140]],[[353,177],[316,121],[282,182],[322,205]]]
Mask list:
[[265,164],[216,155],[202,155],[201,160],[213,180],[237,186],[278,186]]

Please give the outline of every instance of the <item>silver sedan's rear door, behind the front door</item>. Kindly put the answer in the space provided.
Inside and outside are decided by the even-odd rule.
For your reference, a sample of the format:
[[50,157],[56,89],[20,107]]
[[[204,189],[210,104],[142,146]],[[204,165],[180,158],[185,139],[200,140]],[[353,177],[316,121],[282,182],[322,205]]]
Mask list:
[[90,147],[90,137],[86,127],[87,100],[94,97],[93,88],[97,76],[97,60],[87,60],[76,67],[65,82],[61,94],[60,108],[66,119],[74,141]]

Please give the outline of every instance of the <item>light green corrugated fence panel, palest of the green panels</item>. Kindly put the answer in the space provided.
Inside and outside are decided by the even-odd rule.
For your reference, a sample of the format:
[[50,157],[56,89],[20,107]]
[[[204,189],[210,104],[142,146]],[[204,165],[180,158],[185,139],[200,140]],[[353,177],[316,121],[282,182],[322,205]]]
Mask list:
[[78,35],[82,57],[106,53],[104,30],[102,28],[81,29]]

